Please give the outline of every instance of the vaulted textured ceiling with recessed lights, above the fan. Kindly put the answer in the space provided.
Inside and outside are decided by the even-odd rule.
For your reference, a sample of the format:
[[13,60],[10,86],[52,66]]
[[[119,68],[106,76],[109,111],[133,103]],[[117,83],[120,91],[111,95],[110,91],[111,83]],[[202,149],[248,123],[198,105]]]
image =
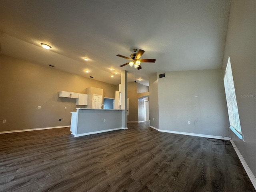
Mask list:
[[120,84],[120,71],[134,81],[134,70],[116,55],[142,49],[156,59],[135,70],[148,86],[155,72],[220,68],[229,9],[230,0],[0,0],[0,53]]

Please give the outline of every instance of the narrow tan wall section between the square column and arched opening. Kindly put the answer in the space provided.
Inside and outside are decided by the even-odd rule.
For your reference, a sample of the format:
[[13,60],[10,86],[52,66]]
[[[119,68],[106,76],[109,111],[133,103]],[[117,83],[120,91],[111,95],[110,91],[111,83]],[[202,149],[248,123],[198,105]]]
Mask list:
[[138,122],[137,83],[127,83],[127,98],[129,98],[129,121]]

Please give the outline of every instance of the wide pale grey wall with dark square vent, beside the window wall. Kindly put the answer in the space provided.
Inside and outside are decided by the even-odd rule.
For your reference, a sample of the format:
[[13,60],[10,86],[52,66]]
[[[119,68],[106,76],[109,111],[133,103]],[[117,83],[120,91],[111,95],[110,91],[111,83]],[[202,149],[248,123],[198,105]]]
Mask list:
[[221,69],[165,72],[158,102],[161,130],[230,136]]

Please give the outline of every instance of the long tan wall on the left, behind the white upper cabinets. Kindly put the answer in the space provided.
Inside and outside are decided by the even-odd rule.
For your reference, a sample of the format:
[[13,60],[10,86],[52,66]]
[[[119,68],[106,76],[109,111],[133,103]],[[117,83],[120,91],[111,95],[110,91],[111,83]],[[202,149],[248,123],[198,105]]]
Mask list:
[[86,93],[88,87],[102,88],[104,97],[115,97],[116,85],[0,55],[0,119],[6,119],[0,123],[0,132],[70,126],[70,112],[86,106],[77,106],[75,98],[58,94]]

